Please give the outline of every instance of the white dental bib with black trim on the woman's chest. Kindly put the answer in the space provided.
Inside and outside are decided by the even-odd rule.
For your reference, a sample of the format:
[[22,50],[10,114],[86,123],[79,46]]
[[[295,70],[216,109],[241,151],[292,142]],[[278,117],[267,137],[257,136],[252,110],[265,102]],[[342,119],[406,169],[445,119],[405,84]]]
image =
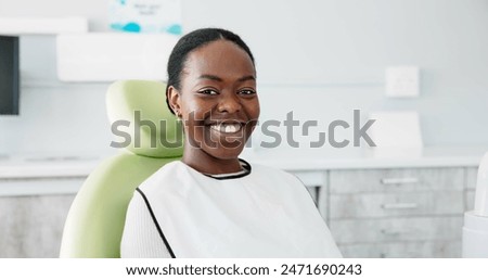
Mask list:
[[[139,207],[146,207],[158,229],[153,245],[166,245],[174,257],[341,257],[296,177],[247,167],[245,174],[215,178],[178,161],[151,176],[134,195],[143,196]],[[130,239],[124,237],[123,247],[138,244]]]

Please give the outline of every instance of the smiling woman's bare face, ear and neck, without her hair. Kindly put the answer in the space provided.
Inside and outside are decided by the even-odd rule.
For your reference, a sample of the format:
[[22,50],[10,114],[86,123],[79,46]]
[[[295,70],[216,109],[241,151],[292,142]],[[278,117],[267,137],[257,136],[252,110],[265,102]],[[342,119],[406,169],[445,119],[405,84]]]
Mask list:
[[242,169],[237,156],[259,117],[256,71],[243,49],[222,39],[190,52],[168,100],[184,124],[183,163],[205,174]]

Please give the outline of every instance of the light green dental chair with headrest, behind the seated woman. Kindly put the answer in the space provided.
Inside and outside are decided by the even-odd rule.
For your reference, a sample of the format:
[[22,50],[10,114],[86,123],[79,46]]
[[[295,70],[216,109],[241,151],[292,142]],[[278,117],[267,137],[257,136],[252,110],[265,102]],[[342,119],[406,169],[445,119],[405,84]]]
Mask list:
[[112,130],[124,149],[102,162],[77,193],[64,226],[61,257],[120,257],[133,191],[183,154],[181,125],[166,106],[165,90],[164,84],[147,80],[110,86],[108,119],[117,124]]

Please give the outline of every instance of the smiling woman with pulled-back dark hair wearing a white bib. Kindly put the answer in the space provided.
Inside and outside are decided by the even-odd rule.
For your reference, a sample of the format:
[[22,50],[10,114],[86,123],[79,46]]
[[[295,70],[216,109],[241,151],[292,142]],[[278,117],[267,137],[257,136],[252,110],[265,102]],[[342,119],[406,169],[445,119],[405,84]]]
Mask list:
[[181,161],[134,193],[123,257],[341,257],[304,184],[239,158],[259,117],[249,48],[228,30],[183,36],[167,102],[183,122]]

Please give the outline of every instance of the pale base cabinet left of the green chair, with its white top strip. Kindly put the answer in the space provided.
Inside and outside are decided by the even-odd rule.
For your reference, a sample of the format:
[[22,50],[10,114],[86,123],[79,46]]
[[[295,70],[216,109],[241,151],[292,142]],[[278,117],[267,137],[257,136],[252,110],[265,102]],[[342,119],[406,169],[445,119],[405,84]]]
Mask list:
[[0,257],[57,257],[86,177],[0,179]]

